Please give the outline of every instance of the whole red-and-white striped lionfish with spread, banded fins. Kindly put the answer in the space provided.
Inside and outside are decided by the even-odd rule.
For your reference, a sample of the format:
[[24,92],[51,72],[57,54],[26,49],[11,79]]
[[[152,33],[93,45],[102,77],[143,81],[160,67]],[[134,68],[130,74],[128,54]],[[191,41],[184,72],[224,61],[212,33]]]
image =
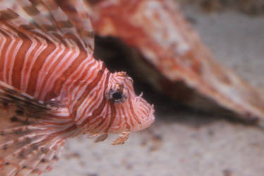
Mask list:
[[0,175],[38,175],[65,139],[106,139],[149,127],[153,105],[124,72],[93,57],[92,25],[78,0],[0,1]]

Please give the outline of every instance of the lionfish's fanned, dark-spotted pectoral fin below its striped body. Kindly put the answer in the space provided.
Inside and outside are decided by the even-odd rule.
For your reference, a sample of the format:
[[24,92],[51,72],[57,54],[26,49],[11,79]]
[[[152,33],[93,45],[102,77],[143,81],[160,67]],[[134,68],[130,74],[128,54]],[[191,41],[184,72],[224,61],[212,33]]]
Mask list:
[[65,137],[80,134],[66,108],[54,109],[0,82],[0,175],[51,170]]

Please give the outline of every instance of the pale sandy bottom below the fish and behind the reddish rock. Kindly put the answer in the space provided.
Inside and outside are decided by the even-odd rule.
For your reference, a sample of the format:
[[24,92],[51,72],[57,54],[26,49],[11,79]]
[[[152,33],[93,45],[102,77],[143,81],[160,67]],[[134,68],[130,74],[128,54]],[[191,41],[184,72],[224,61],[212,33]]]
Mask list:
[[[264,87],[264,20],[236,12],[205,14],[185,8],[221,63],[256,87]],[[161,106],[159,106],[161,104]],[[131,135],[125,145],[113,139],[94,143],[69,139],[51,176],[263,176],[264,131],[218,115],[175,111],[158,103],[152,127]]]

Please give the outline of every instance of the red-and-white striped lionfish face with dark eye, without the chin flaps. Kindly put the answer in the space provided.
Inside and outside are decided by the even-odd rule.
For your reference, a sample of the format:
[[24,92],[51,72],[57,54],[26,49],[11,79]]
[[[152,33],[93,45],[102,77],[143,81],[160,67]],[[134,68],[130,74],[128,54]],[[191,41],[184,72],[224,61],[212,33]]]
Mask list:
[[111,107],[113,120],[109,132],[135,132],[149,127],[155,120],[154,108],[142,94],[137,96],[133,80],[125,72],[111,73],[106,99]]

